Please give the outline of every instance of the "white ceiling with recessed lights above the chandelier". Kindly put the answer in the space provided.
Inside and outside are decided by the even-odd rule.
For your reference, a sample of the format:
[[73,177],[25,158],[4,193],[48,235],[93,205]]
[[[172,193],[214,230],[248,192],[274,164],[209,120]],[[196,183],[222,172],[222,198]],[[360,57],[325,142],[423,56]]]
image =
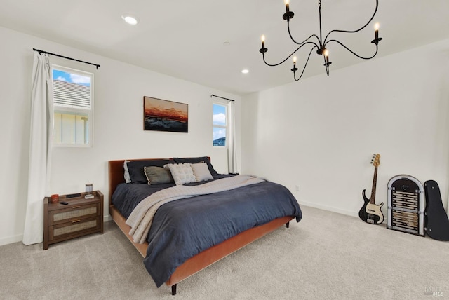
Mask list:
[[[282,19],[282,0],[0,0],[0,8],[0,26],[236,95],[293,81],[291,60],[267,67],[259,53],[262,34],[268,62],[295,49]],[[375,0],[322,0],[323,37],[332,29],[358,29],[374,8]],[[319,34],[318,0],[290,0],[290,11],[297,41]],[[123,13],[138,16],[140,23],[127,25]],[[374,22],[380,22],[383,38],[377,57],[448,39],[449,0],[380,0]],[[374,53],[372,24],[333,37],[360,55]],[[330,76],[363,61],[336,43],[328,49]],[[308,53],[297,54],[298,67]],[[250,72],[241,74],[244,68]],[[324,71],[323,58],[312,54],[304,76]]]

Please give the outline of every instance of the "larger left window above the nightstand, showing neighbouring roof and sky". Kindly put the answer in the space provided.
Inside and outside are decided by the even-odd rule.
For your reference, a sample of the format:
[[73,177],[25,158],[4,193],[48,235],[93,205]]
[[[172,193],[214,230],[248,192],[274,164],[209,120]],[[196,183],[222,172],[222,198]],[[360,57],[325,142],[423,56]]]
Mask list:
[[91,146],[93,74],[53,65],[53,145]]

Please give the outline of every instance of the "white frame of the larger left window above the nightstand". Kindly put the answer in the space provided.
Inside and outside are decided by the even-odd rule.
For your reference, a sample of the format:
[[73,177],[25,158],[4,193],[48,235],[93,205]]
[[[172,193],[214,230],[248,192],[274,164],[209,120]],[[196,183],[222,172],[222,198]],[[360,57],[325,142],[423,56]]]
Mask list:
[[[67,147],[67,148],[91,148],[93,147],[93,107],[94,107],[94,94],[93,94],[93,90],[94,90],[94,74],[91,72],[87,72],[87,71],[82,71],[79,69],[72,69],[69,67],[64,67],[61,66],[60,64],[51,64],[51,80],[52,80],[52,84],[53,84],[53,70],[58,70],[58,71],[64,71],[70,74],[76,74],[76,75],[81,75],[81,76],[87,76],[91,79],[90,81],[90,85],[89,85],[89,92],[90,92],[90,108],[89,109],[85,109],[85,108],[76,108],[76,107],[65,107],[65,106],[60,106],[58,104],[55,104],[55,97],[53,96],[53,118],[55,118],[55,114],[72,114],[75,116],[81,116],[81,118],[85,115],[88,116],[88,121],[87,121],[87,130],[88,130],[88,135],[87,135],[87,143],[86,144],[67,144],[67,143],[55,143],[54,142],[54,135],[55,135],[55,121],[53,121],[53,136],[52,136],[52,146],[53,147]],[[53,88],[54,91],[54,88]],[[85,128],[86,130],[86,128]],[[86,140],[86,134],[84,134],[84,139]]]

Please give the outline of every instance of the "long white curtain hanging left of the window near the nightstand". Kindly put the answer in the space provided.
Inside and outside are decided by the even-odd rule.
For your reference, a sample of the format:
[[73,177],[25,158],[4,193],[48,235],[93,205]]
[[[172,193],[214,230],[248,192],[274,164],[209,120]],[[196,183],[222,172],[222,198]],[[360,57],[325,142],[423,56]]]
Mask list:
[[49,195],[53,135],[53,81],[48,55],[34,53],[27,214],[23,243],[43,241],[43,198]]

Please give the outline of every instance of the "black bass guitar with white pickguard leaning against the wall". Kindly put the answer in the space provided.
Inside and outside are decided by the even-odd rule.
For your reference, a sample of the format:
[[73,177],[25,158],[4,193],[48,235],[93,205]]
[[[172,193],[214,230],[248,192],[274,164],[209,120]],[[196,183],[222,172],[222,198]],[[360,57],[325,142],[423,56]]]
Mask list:
[[376,205],[376,182],[377,182],[377,167],[380,165],[380,154],[373,155],[371,163],[374,165],[374,176],[373,176],[373,188],[371,189],[371,197],[368,199],[365,196],[365,191],[362,191],[363,201],[365,202],[358,212],[358,217],[368,224],[381,224],[384,221],[384,214],[382,213],[382,206]]

